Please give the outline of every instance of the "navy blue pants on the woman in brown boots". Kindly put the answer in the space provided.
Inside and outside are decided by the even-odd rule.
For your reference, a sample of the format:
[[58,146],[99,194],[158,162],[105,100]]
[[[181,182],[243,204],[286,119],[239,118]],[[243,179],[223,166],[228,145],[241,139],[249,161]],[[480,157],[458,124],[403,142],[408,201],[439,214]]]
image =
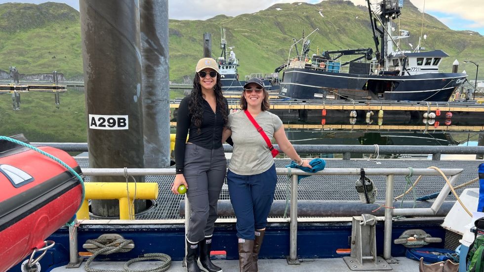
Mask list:
[[237,216],[237,236],[254,240],[255,230],[267,225],[276,191],[276,164],[257,175],[237,175],[227,172],[230,202]]

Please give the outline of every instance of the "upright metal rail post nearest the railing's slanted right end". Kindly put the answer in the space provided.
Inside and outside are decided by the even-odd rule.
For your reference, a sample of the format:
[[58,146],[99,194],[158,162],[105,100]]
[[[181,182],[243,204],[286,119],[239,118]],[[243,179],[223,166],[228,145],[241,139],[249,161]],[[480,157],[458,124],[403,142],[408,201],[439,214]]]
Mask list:
[[387,186],[385,189],[385,228],[383,230],[383,258],[392,258],[392,227],[393,227],[393,180],[395,175],[387,175]]

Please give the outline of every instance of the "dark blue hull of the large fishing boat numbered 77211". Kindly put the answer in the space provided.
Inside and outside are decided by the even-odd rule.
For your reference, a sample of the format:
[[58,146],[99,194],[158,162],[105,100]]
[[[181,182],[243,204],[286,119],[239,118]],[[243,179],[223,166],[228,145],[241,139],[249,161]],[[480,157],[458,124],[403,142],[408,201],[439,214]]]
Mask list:
[[466,74],[458,73],[369,76],[291,68],[284,71],[280,97],[308,100],[448,101],[466,77]]

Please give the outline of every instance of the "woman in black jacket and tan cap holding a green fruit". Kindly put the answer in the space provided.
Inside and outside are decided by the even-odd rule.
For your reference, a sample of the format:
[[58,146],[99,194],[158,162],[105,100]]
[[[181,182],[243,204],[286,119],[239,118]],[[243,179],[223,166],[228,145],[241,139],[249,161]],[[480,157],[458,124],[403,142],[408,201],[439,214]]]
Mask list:
[[222,272],[210,261],[210,245],[226,174],[222,131],[227,125],[229,111],[215,60],[199,60],[195,71],[192,93],[183,98],[178,108],[176,176],[171,191],[179,194],[177,189],[183,184],[190,201],[187,271]]

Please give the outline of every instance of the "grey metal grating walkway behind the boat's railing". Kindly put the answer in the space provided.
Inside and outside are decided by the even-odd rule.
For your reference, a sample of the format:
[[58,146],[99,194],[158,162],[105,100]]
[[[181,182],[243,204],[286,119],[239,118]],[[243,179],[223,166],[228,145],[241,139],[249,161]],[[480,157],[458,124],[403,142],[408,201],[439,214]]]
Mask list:
[[[81,168],[88,168],[89,161],[86,157],[75,157]],[[325,159],[326,168],[427,168],[437,166],[439,168],[463,168],[454,186],[463,184],[478,177],[479,164],[482,160],[411,160],[411,159]],[[283,168],[291,162],[290,159],[276,159],[276,167]],[[376,161],[381,162],[377,164]],[[227,160],[228,165],[229,160]],[[385,200],[385,176],[369,177],[378,188],[377,201]],[[411,183],[415,182],[418,176],[410,178]],[[356,176],[308,176],[301,179],[298,186],[298,200],[360,200],[355,190]],[[180,200],[185,195],[175,195],[171,193],[171,184],[174,176],[146,176],[146,182],[156,182],[159,186],[159,196],[157,206],[151,212],[137,216],[137,219],[184,219],[179,215]],[[86,177],[89,181],[89,177]],[[415,196],[420,197],[433,194],[442,189],[445,181],[441,176],[423,177],[417,184]],[[410,184],[411,185],[411,184]],[[403,194],[406,184],[404,176],[395,176],[395,196]],[[278,176],[276,193],[274,200],[286,200],[289,194],[290,182],[285,176]],[[479,188],[479,183],[473,183],[466,188]],[[457,194],[462,193],[465,188],[456,190]],[[413,194],[406,195],[405,200],[413,200]],[[227,188],[227,180],[224,181],[220,199],[230,199]],[[451,194],[445,200],[455,200]],[[224,217],[227,218],[227,217]],[[229,217],[232,218],[232,217]],[[235,217],[233,217],[235,218]]]

